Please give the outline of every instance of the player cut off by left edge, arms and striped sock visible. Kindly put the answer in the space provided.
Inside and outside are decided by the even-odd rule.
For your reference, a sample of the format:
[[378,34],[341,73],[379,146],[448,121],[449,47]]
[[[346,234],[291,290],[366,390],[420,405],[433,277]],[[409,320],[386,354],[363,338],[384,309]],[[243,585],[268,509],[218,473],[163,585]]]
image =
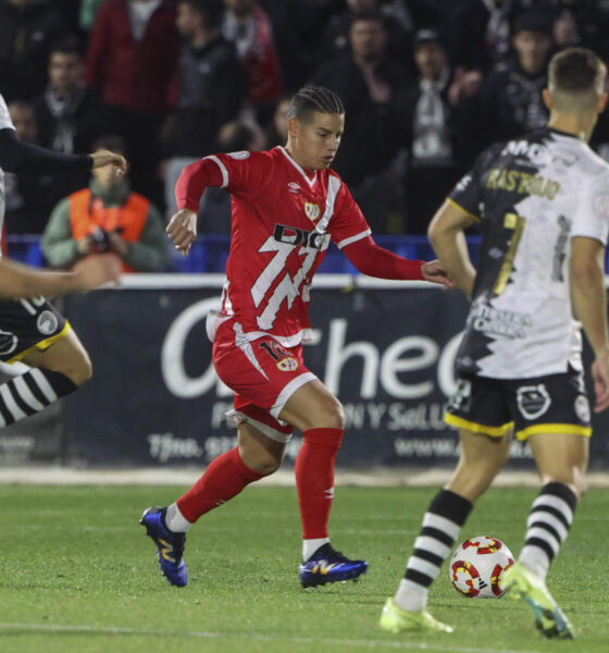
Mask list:
[[[21,141],[0,95],[0,233],[4,220],[2,170],[50,174],[103,165],[126,170],[125,159],[107,150],[60,155]],[[116,280],[117,264],[108,255],[82,261],[73,273],[58,273],[0,258],[0,360],[23,361],[32,368],[0,384],[0,428],[39,412],[91,375],[91,364],[80,341],[63,316],[39,295],[84,291]]]

